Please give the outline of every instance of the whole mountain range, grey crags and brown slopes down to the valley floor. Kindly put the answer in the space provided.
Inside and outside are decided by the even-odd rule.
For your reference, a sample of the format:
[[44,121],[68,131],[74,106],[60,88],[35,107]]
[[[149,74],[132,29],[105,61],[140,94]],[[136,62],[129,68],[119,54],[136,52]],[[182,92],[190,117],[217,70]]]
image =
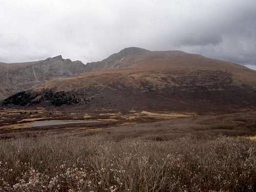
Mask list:
[[[43,71],[42,75],[37,71]],[[10,73],[12,79],[23,75],[30,81],[12,80],[12,93],[23,92],[5,99],[5,106],[69,105],[92,111],[256,109],[256,71],[182,51],[125,48],[87,65],[55,57],[10,67],[5,76]],[[17,82],[30,85],[22,87]]]

